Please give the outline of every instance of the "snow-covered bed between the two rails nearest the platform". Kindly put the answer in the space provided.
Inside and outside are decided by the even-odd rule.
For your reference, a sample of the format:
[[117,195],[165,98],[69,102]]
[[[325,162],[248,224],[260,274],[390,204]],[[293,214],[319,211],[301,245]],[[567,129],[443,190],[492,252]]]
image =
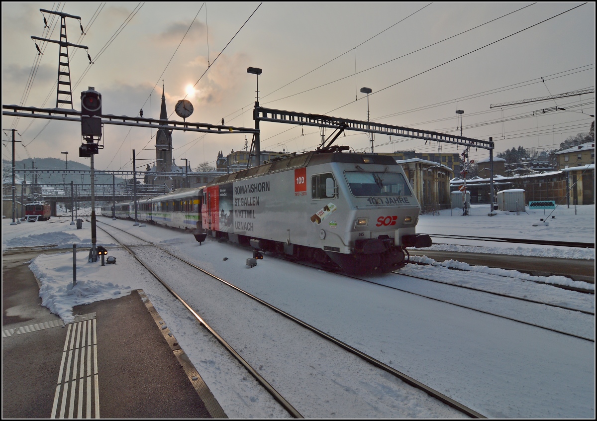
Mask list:
[[[127,232],[127,235],[133,234]],[[165,257],[164,253],[168,253],[169,257]],[[247,359],[250,359],[252,364],[246,362],[243,365],[264,387],[270,390],[270,393],[272,393],[276,400],[287,408],[288,412],[294,417],[301,417],[301,414],[306,417],[365,417],[370,414],[370,405],[380,406],[380,398],[376,396],[374,390],[371,390],[370,387],[363,388],[362,385],[379,385],[384,389],[390,388],[395,390],[399,395],[411,395],[410,399],[424,400],[426,405],[429,405],[430,398],[427,395],[430,395],[444,402],[444,404],[456,408],[463,414],[472,417],[484,417],[452,398],[435,391],[429,386],[370,357],[364,352],[358,351],[358,349],[264,302],[256,296],[242,291],[240,288],[235,287],[216,275],[208,273],[205,269],[177,257],[162,247],[139,247],[134,254],[138,259],[145,262],[143,263],[144,266],[152,266],[152,269],[148,269],[156,278],[167,279],[168,284],[171,285],[168,288],[179,299],[183,295],[187,297],[184,301],[189,302],[189,304],[185,303],[185,306],[213,334],[220,337],[219,334],[215,333],[214,328],[207,325],[205,319],[210,319],[210,324],[217,328],[219,332],[227,332],[225,336],[232,337],[232,339],[227,341],[231,345],[228,345],[223,339],[220,342],[229,346],[229,352],[233,355],[238,355],[238,357],[235,355],[236,358],[242,359],[240,357],[241,353],[249,355]],[[173,291],[173,289],[179,290],[183,288],[181,286],[174,286],[176,279],[172,276],[171,266],[173,266],[172,260],[175,257],[179,259],[179,262],[184,262],[186,266],[178,265],[176,275],[183,277],[193,276],[193,278],[198,279],[199,283],[201,283],[201,287],[193,288],[193,291],[186,290],[177,293]],[[163,263],[164,260],[169,260],[168,264]],[[166,266],[169,266],[170,269],[165,270]],[[189,267],[194,268],[194,272],[190,271]],[[201,271],[201,274],[204,275],[198,274],[197,271]],[[205,275],[210,276],[212,279],[217,279],[219,282],[210,282]],[[230,290],[229,287],[233,289]],[[227,291],[222,291],[221,288],[227,288]],[[214,296],[219,297],[221,300],[226,300],[226,303],[220,302],[218,306],[219,308],[224,307],[226,309],[223,313],[219,309],[213,308],[213,306],[208,309],[207,303],[216,301],[210,299],[210,297]],[[200,297],[203,297],[203,299],[200,299]],[[250,299],[250,302],[247,302],[248,299]],[[190,302],[195,304],[190,304]],[[256,303],[259,304],[257,305]],[[203,316],[199,316],[192,308],[202,308]],[[229,309],[233,309],[236,315],[230,315]],[[280,316],[284,316],[284,318]],[[272,337],[269,334],[263,333],[272,329],[276,332],[276,336]],[[254,337],[254,341],[256,342],[245,343],[235,339],[234,331],[242,330],[253,331],[251,336]],[[232,345],[233,343],[236,345]],[[244,348],[242,345],[244,345]],[[247,351],[248,346],[250,349]],[[337,348],[338,346],[341,349]],[[259,362],[256,363],[253,361],[259,361],[263,358],[263,355],[260,355],[261,353],[259,352],[263,348],[275,348],[276,353],[284,357],[281,361],[273,361],[273,363],[266,361],[264,364],[261,364],[259,371],[264,373],[262,377],[251,365],[257,367]],[[239,351],[235,351],[235,349]],[[293,361],[293,363],[289,365],[289,361]],[[295,368],[297,361],[298,367]],[[341,364],[341,368],[338,367],[338,361]],[[376,370],[370,364],[383,371]],[[383,374],[384,371],[400,380],[387,377]],[[289,376],[287,372],[290,372],[291,375]],[[264,377],[269,377],[272,380],[267,382]],[[278,385],[279,379],[285,379],[285,381],[282,380],[281,385],[276,386],[276,389],[284,391],[284,395],[288,397],[288,400],[298,400],[298,404],[288,404],[287,400],[270,386],[270,383],[273,382]],[[420,390],[410,388],[402,382]],[[358,391],[356,393],[357,397],[355,397],[355,390]],[[321,406],[319,400],[325,394],[329,395],[330,393],[334,395],[338,406],[331,414],[321,413],[318,409]],[[347,402],[352,403],[347,404]],[[389,417],[458,417],[462,415],[453,409],[445,407],[441,402],[437,402],[435,405],[437,408],[426,414],[417,413],[416,410],[405,408],[404,406],[398,407],[397,402],[383,402],[387,405],[387,408],[383,409],[383,413]],[[329,405],[330,402],[326,401],[325,406]]]

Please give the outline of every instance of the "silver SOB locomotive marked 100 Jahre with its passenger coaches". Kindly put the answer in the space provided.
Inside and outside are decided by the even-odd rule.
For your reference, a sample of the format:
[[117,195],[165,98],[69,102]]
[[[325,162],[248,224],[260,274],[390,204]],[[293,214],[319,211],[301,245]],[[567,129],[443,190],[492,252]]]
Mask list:
[[407,247],[431,245],[416,233],[420,204],[392,157],[346,149],[294,154],[180,189],[168,195],[179,203],[166,211],[165,196],[145,199],[140,219],[192,228],[194,216],[196,229],[214,238],[257,242],[260,250],[349,274],[402,268]]

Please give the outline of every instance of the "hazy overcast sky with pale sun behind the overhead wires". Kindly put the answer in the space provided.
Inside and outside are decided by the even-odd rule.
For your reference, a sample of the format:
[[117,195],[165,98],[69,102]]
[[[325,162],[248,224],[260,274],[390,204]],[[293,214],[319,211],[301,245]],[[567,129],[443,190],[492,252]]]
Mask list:
[[[594,3],[2,2],[3,105],[56,106],[58,45],[38,42],[44,51],[38,56],[30,36],[58,39],[60,32],[54,24],[51,34],[44,32],[40,8],[80,16],[87,32],[81,38],[79,22],[67,19],[68,41],[87,45],[95,62],[89,66],[84,50],[69,48],[76,110],[81,91],[95,87],[103,113],[136,116],[143,108],[144,116],[159,118],[164,79],[171,119],[181,120],[174,105],[187,95],[195,107],[187,121],[220,124],[224,118],[227,125],[254,127],[252,66],[263,69],[261,106],[366,120],[367,97],[360,89],[369,87],[372,121],[459,134],[455,111],[461,109],[463,135],[493,137],[496,153],[521,145],[556,148],[589,131],[594,121],[594,93],[490,109],[595,88]],[[20,118],[17,160],[64,158],[60,152],[68,151],[69,160],[89,164],[78,156],[79,125],[48,122]],[[14,118],[2,117],[2,128],[14,125]],[[132,149],[138,165],[155,160],[155,130],[104,129],[96,168],[131,170]],[[302,152],[320,142],[316,127],[261,124],[262,150]],[[367,134],[356,132],[337,143],[357,152],[370,145]],[[214,165],[220,150],[244,149],[245,135],[174,131],[173,145],[177,164],[187,158],[195,168],[204,161]],[[375,152],[438,151],[436,144],[378,134],[375,145]],[[444,145],[442,152],[462,148]],[[486,156],[482,149],[470,155]],[[11,158],[8,142],[2,158]]]

